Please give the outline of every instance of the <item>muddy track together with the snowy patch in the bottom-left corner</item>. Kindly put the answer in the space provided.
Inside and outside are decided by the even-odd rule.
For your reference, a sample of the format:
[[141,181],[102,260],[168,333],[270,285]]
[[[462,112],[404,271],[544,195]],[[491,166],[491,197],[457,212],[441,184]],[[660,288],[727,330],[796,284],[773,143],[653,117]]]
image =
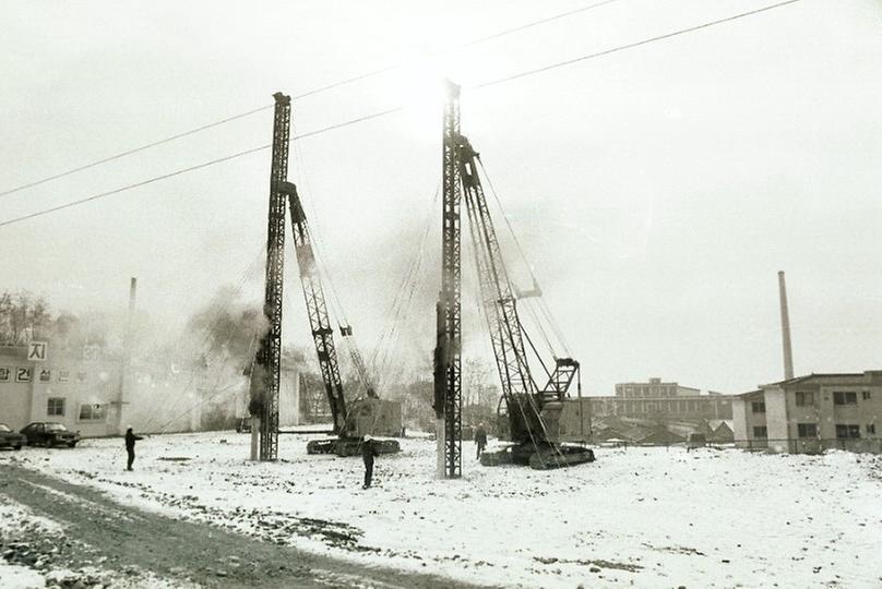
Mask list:
[[3,587],[450,585],[448,579],[343,562],[198,519],[142,510],[14,464],[0,471],[0,514],[5,565],[0,579],[9,575]]

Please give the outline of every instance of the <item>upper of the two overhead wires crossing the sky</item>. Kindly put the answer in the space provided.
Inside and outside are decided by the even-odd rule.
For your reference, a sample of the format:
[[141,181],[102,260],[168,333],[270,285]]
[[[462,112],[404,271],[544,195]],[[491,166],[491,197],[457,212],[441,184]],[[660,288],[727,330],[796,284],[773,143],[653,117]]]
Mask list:
[[[605,0],[603,2],[596,2],[594,4],[587,4],[585,7],[569,10],[567,12],[562,12],[562,13],[556,14],[553,16],[548,16],[546,19],[540,19],[538,21],[533,21],[533,22],[529,22],[529,23],[526,23],[526,24],[523,24],[523,25],[520,25],[520,26],[516,26],[516,27],[513,27],[513,28],[508,28],[508,29],[504,29],[504,31],[500,31],[498,33],[493,33],[492,35],[487,35],[487,36],[484,36],[484,37],[479,37],[479,38],[473,39],[470,41],[466,41],[466,43],[463,43],[463,44],[460,44],[460,45],[453,45],[453,46],[450,46],[450,47],[445,47],[445,48],[441,49],[438,52],[439,53],[446,53],[446,52],[450,52],[450,51],[454,51],[456,49],[464,49],[466,47],[472,47],[472,46],[475,46],[475,45],[479,45],[481,43],[487,43],[489,40],[505,37],[508,35],[512,35],[514,33],[520,33],[521,31],[525,31],[527,28],[533,28],[533,27],[536,27],[536,26],[539,26],[539,25],[543,25],[543,24],[546,24],[546,23],[550,23],[550,22],[553,22],[553,21],[558,21],[558,20],[568,17],[568,16],[573,16],[573,15],[579,14],[581,12],[587,12],[587,11],[593,10],[595,8],[599,8],[599,7],[603,7],[605,4],[611,4],[611,3],[618,2],[618,1],[619,0]],[[383,73],[386,73],[386,72],[391,72],[393,70],[396,70],[396,69],[403,67],[404,64],[405,64],[405,62],[402,61],[402,62],[398,62],[398,63],[394,63],[392,65],[386,65],[384,68],[378,68],[376,70],[371,70],[371,71],[368,71],[368,72],[365,72],[365,73],[361,73],[361,74],[358,74],[358,75],[354,75],[351,77],[346,77],[344,80],[338,80],[337,82],[333,82],[333,83],[327,84],[325,86],[319,86],[317,88],[312,88],[310,91],[307,91],[307,92],[303,92],[303,93],[300,93],[300,94],[296,94],[296,95],[291,96],[291,99],[293,100],[300,100],[302,98],[307,98],[308,96],[314,96],[317,94],[321,94],[323,92],[327,92],[327,91],[331,91],[331,89],[334,89],[334,88],[338,88],[341,86],[346,86],[346,85],[349,85],[349,84],[354,84],[355,82],[359,82],[361,80],[367,80],[367,79],[373,77],[376,75],[380,75],[380,74],[383,74]],[[158,145],[170,143],[172,141],[176,141],[176,140],[179,140],[179,139],[182,139],[182,137],[187,137],[189,135],[194,135],[194,134],[200,133],[202,131],[206,131],[208,129],[213,129],[215,127],[219,127],[222,124],[226,124],[228,122],[236,121],[238,119],[243,119],[246,117],[250,117],[251,115],[255,115],[258,112],[263,112],[264,110],[270,110],[271,108],[273,108],[273,106],[274,105],[265,105],[265,106],[258,107],[258,108],[254,108],[254,109],[251,109],[251,110],[247,110],[245,112],[240,112],[239,115],[234,115],[231,117],[227,117],[226,119],[221,119],[218,121],[214,121],[214,122],[211,122],[208,124],[203,124],[202,127],[196,127],[195,129],[191,129],[189,131],[183,131],[181,133],[170,135],[168,137],[160,139],[158,141],[154,141],[153,143],[147,143],[147,144],[141,145],[140,147],[133,147],[133,148],[128,149],[126,152],[120,152],[120,153],[118,153],[116,155],[111,155],[111,156],[105,157],[103,159],[92,161],[91,164],[85,164],[83,166],[78,166],[75,168],[71,168],[71,169],[65,170],[63,172],[59,172],[59,173],[56,173],[53,176],[48,176],[48,177],[43,178],[40,180],[35,180],[35,181],[28,182],[26,184],[21,184],[19,187],[14,187],[14,188],[11,188],[11,189],[5,190],[3,192],[0,192],[0,196],[5,196],[5,195],[12,194],[14,192],[20,192],[22,190],[38,187],[40,184],[45,184],[46,182],[50,182],[52,180],[58,180],[59,178],[64,178],[65,176],[71,176],[73,173],[76,173],[76,172],[80,172],[80,171],[83,171],[83,170],[87,170],[90,168],[95,168],[95,167],[100,166],[103,164],[107,164],[107,163],[114,161],[116,159],[120,159],[120,158],[123,158],[123,157],[127,157],[127,156],[130,156],[130,155],[133,155],[133,154],[138,154],[140,152],[144,152],[146,149],[150,149],[152,147],[156,147]]]

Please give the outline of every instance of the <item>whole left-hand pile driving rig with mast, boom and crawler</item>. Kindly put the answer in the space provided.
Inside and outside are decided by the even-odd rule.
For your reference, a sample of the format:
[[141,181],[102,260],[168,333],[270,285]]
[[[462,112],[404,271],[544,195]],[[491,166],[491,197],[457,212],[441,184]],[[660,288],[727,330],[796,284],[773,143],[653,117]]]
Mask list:
[[[358,353],[355,346],[351,346],[353,361],[367,390],[365,396],[354,399],[347,407],[334,346],[334,330],[331,327],[306,214],[297,193],[297,187],[287,181],[290,97],[276,93],[274,98],[276,103],[266,244],[266,296],[264,299],[264,314],[270,326],[261,339],[254,370],[251,373],[250,409],[252,416],[260,418],[260,459],[275,460],[277,458],[286,203],[290,209],[295,252],[312,340],[334,420],[331,433],[335,437],[309,442],[307,453],[354,456],[360,453],[361,438],[366,434],[398,435],[401,433],[401,404],[381,400],[378,397],[368,377],[368,370],[361,354]],[[341,335],[351,336],[351,326],[341,326]],[[395,440],[378,440],[376,446],[381,453],[395,453],[401,449]]]

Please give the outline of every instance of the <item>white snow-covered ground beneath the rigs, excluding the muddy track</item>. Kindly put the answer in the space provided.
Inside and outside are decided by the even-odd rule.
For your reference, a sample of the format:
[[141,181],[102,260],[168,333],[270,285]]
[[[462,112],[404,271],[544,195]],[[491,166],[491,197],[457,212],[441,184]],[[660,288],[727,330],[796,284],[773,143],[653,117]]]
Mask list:
[[[313,436],[314,437],[314,436]],[[434,443],[402,440],[361,489],[359,458],[247,460],[249,436],[154,436],[123,471],[120,440],[25,448],[5,460],[180,517],[359,562],[498,586],[881,587],[882,457],[740,450],[597,450],[557,471],[433,478]]]

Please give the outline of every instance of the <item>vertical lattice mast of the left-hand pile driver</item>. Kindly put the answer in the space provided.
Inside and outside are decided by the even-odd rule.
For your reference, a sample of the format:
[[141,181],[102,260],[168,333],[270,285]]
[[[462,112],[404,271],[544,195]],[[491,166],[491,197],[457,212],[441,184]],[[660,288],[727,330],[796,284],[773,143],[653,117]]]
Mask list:
[[[282,363],[282,288],[285,269],[285,203],[283,183],[288,178],[288,137],[291,100],[282,93],[275,98],[273,163],[270,170],[270,214],[266,229],[266,293],[263,314],[270,324],[261,339],[257,366],[263,380],[261,398],[252,388],[252,406],[260,410],[260,459],[278,458],[278,375]],[[253,382],[253,377],[252,377]],[[257,402],[254,402],[257,401]]]

